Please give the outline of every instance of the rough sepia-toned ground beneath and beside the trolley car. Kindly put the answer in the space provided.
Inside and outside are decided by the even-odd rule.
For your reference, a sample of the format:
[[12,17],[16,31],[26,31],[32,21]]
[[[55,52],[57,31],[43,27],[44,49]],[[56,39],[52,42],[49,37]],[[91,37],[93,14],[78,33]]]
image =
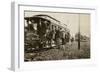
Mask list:
[[38,52],[24,54],[24,61],[45,61],[45,60],[65,60],[65,59],[87,59],[90,58],[90,42],[81,42],[80,50],[78,43],[67,43],[58,48],[44,49]]

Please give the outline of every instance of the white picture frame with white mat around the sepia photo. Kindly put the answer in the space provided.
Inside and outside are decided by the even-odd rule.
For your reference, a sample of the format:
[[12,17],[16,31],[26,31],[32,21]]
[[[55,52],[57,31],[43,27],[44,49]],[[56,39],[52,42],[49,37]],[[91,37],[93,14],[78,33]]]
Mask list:
[[[32,11],[56,11],[67,13],[89,13],[91,15],[91,58],[77,60],[59,60],[59,61],[38,61],[24,62],[24,10]],[[32,3],[12,2],[11,4],[11,69],[36,70],[48,68],[68,68],[96,65],[95,32],[96,32],[96,7],[69,5],[62,6],[43,6],[33,5]]]

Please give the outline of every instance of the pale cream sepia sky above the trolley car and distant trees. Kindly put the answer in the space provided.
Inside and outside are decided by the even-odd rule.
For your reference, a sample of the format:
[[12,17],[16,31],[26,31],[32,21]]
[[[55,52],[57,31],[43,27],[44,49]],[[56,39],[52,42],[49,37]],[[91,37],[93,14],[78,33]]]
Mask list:
[[90,14],[25,11],[24,16],[31,17],[38,14],[49,15],[66,24],[72,36],[78,32],[80,25],[81,34],[90,37]]

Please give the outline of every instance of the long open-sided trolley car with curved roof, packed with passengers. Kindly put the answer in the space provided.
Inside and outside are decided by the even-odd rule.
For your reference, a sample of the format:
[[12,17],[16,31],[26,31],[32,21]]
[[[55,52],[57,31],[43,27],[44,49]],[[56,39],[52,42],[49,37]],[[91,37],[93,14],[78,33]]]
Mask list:
[[25,50],[54,48],[68,42],[70,31],[67,25],[48,15],[25,17]]

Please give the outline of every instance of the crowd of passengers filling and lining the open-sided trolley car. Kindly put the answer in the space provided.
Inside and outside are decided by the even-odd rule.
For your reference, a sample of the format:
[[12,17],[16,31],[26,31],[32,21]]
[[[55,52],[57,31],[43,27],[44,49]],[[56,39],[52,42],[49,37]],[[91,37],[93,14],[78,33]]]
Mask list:
[[60,48],[60,45],[66,45],[70,39],[70,32],[66,28],[60,27],[58,25],[51,25],[50,22],[39,21],[38,23],[32,22],[28,25],[28,30],[33,34],[37,34],[39,38],[38,46],[39,48],[54,47]]

